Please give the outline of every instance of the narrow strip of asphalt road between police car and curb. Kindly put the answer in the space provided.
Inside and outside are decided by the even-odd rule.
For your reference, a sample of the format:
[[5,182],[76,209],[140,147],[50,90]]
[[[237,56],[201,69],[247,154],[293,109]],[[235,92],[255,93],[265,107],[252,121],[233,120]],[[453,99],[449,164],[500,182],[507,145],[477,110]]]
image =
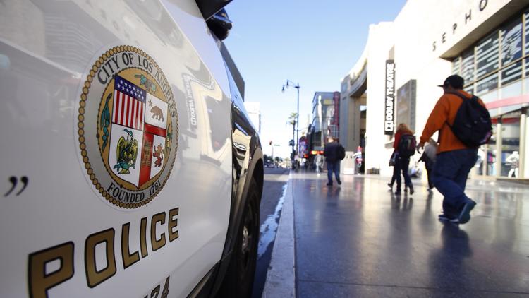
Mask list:
[[272,256],[272,247],[274,246],[277,225],[279,224],[283,205],[281,198],[289,173],[290,169],[265,168],[265,183],[260,205],[260,237],[257,249],[253,298],[261,297],[262,289],[265,287],[268,266]]

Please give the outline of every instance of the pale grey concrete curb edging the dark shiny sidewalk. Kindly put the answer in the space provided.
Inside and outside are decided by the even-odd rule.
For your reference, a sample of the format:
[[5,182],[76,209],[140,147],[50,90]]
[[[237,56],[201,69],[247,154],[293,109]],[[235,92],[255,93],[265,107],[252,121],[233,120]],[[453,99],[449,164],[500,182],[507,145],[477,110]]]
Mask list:
[[296,297],[296,264],[294,261],[294,208],[292,174],[286,186],[283,210],[277,227],[272,258],[262,297]]

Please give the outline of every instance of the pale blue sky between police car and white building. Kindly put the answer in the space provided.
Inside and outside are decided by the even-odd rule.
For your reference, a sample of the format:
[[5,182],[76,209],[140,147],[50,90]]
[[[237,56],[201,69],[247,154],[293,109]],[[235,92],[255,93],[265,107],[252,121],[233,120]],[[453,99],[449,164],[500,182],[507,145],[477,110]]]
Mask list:
[[[263,153],[288,157],[299,83],[299,129],[312,121],[315,92],[340,91],[360,59],[370,24],[392,21],[405,0],[233,0],[233,29],[224,40],[245,81],[246,102],[260,102]],[[300,133],[301,136],[301,133]]]

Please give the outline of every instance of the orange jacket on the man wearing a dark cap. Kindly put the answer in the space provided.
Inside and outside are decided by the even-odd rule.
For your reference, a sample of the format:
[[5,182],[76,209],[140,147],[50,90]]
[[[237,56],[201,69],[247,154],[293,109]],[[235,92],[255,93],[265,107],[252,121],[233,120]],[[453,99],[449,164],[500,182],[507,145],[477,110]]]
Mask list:
[[[463,90],[458,90],[457,92],[465,97],[472,97],[472,95]],[[478,101],[481,105],[485,106],[481,100]],[[432,113],[430,113],[428,121],[426,121],[425,129],[422,130],[422,136],[420,136],[420,143],[426,143],[430,140],[434,132],[439,131],[439,148],[437,148],[437,153],[468,148],[459,141],[450,127],[446,125],[446,122],[450,125],[454,124],[457,110],[462,102],[463,99],[457,95],[446,93],[442,95],[437,100],[437,104],[435,104]]]

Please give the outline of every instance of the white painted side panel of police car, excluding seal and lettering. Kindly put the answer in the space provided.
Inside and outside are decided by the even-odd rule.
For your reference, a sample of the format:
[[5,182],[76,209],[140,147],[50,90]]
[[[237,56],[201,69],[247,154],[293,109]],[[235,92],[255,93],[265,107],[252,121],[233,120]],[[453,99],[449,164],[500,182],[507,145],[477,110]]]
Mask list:
[[[22,187],[18,182],[16,191],[1,201],[0,296],[28,296],[34,286],[28,281],[30,256],[70,242],[73,276],[50,287],[49,297],[73,292],[76,297],[145,297],[157,286],[163,289],[168,276],[169,296],[186,296],[226,252],[234,209],[231,90],[217,44],[195,2],[12,0],[3,5],[0,187],[7,193],[11,177],[27,177],[28,183],[16,195]],[[120,208],[98,193],[85,169],[78,135],[87,76],[99,57],[121,46],[140,49],[156,62],[171,87],[178,119],[168,179],[152,201],[133,209]],[[101,95],[90,90],[89,100],[99,100]],[[85,119],[83,124],[96,122]],[[244,174],[250,168],[250,161],[245,162]],[[175,208],[178,238],[170,242],[169,212]],[[164,233],[165,245],[154,251],[147,243],[147,256],[124,268],[123,225],[129,224],[132,254],[141,251],[142,219],[150,242],[154,215],[160,213],[164,222],[155,222],[154,234],[161,239]],[[116,270],[90,287],[85,246],[90,235],[106,230],[114,236]],[[95,246],[96,270],[112,263],[105,254],[111,244]],[[68,265],[68,259],[62,262],[47,263],[46,274]]]

